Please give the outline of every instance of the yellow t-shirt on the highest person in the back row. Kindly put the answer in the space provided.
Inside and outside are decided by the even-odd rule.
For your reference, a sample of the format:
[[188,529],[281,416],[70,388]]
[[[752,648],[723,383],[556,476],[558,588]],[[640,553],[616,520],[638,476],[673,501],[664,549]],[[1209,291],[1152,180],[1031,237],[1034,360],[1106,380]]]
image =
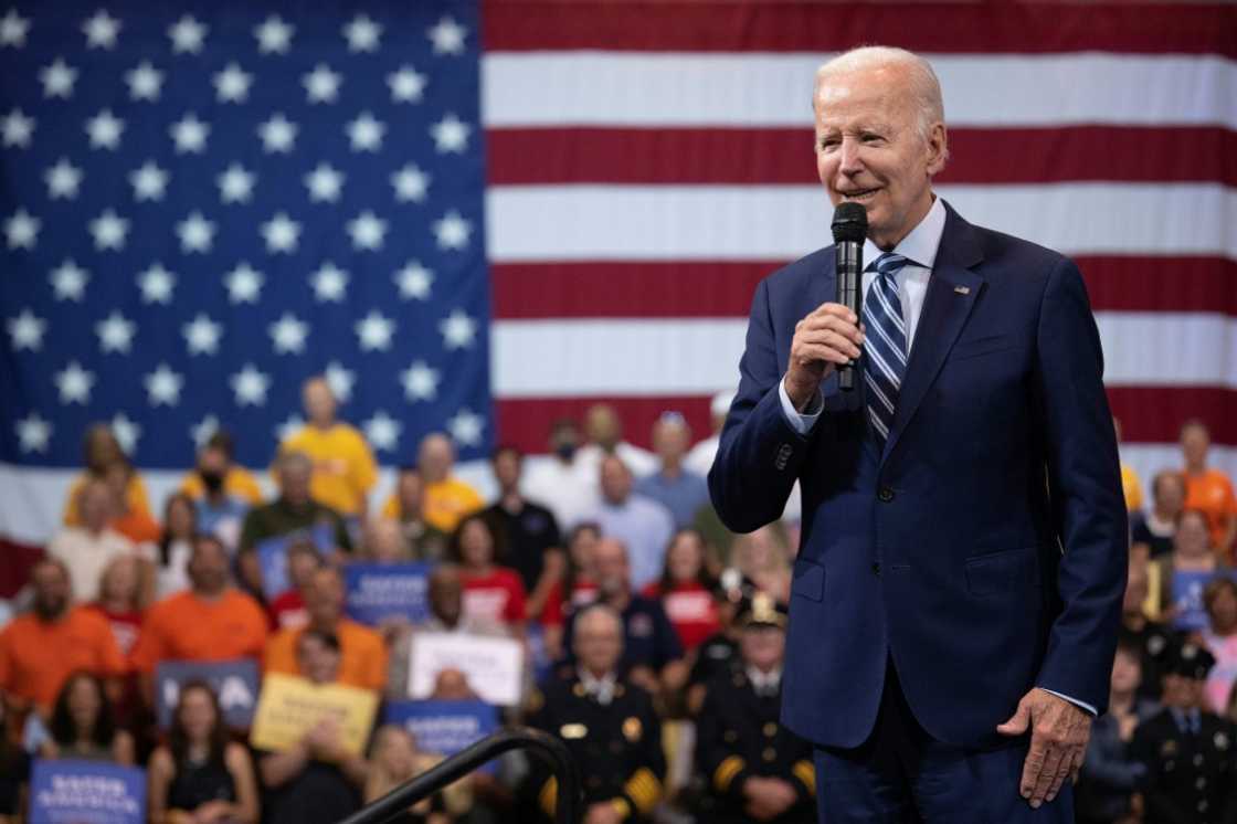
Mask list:
[[280,449],[303,452],[313,459],[309,494],[315,501],[344,516],[365,510],[365,495],[377,481],[379,469],[360,432],[346,423],[329,429],[307,426]]

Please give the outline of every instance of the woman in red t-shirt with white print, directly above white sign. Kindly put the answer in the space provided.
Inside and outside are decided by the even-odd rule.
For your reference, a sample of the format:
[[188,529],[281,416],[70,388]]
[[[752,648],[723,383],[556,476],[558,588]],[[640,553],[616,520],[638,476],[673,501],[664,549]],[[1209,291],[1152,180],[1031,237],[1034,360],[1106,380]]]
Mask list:
[[513,635],[524,629],[524,585],[513,569],[495,563],[505,556],[489,521],[469,515],[452,536],[452,560],[459,564],[464,583],[464,614],[496,621]]

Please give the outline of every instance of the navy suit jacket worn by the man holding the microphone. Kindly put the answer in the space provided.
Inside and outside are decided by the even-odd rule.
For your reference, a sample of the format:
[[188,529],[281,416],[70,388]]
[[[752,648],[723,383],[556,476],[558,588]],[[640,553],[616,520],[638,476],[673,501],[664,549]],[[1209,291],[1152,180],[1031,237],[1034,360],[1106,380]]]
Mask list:
[[1077,267],[948,208],[880,453],[862,390],[841,392],[836,374],[808,436],[782,410],[794,325],[835,294],[831,246],[760,283],[709,474],[737,532],[778,518],[803,485],[783,721],[824,746],[858,746],[891,657],[940,741],[998,746],[995,727],[1034,685],[1102,713],[1127,523]]

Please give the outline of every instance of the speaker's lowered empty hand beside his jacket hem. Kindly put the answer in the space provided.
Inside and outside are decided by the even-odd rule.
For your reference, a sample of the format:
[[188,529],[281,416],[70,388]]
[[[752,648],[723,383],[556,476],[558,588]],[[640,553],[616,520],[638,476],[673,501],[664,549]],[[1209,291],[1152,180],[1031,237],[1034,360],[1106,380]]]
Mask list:
[[1001,735],[1030,730],[1030,751],[1022,768],[1022,797],[1038,808],[1056,798],[1061,784],[1082,767],[1091,739],[1091,716],[1081,708],[1038,687],[1022,697],[1018,710],[997,727]]

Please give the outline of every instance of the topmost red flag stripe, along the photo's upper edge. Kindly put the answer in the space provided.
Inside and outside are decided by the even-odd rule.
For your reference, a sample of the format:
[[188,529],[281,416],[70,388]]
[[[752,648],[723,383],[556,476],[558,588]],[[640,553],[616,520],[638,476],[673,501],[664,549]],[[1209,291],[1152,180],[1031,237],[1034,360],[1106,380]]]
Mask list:
[[1112,51],[1237,56],[1237,7],[1028,2],[563,2],[485,0],[486,51],[925,53]]

